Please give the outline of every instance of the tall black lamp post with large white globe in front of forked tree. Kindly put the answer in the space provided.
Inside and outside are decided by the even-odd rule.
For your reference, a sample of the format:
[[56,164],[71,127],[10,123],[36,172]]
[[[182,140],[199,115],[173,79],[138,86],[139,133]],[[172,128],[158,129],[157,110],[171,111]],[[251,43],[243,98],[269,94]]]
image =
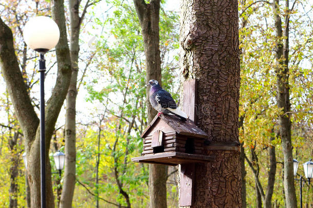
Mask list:
[[33,50],[40,52],[40,152],[41,152],[41,207],[46,207],[46,147],[45,147],[45,71],[44,54],[52,49],[60,38],[60,30],[49,17],[31,18],[23,31],[25,43]]

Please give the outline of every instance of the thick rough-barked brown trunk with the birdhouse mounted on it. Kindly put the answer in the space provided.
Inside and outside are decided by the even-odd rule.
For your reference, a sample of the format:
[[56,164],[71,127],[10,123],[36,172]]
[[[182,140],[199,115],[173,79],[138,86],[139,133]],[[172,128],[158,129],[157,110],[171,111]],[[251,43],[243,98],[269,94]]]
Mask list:
[[[238,146],[238,1],[185,0],[181,5],[181,81],[198,80],[196,124],[210,145]],[[242,207],[240,153],[207,150],[195,165],[192,207]]]

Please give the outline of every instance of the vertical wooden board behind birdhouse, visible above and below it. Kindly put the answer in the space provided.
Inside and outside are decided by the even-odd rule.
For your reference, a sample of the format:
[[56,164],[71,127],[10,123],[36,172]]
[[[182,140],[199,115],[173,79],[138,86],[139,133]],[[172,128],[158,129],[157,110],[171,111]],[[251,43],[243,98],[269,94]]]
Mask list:
[[[183,106],[182,110],[194,123],[197,121],[197,82],[195,79],[187,80],[183,84]],[[181,164],[180,173],[180,206],[191,206],[194,190],[194,163]]]

